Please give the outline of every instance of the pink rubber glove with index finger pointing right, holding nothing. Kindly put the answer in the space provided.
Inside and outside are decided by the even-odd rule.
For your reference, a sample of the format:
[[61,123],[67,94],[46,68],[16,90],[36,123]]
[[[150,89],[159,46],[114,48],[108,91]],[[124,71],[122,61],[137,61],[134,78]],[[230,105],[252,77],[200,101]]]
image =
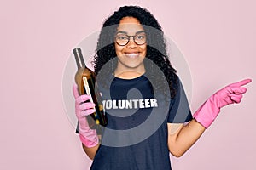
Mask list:
[[203,127],[210,127],[212,122],[218,116],[220,108],[225,105],[240,103],[242,94],[246,93],[247,88],[241,86],[252,82],[251,79],[245,79],[241,82],[232,83],[213,94],[193,115],[197,122]]

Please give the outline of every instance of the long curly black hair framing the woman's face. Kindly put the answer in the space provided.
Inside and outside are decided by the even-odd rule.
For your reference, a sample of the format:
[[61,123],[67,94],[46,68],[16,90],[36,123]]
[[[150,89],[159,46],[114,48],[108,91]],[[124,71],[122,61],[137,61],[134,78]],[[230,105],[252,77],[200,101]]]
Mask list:
[[[102,30],[97,42],[96,54],[93,59],[94,71],[96,76],[101,71],[103,66],[106,66],[108,61],[111,60],[111,64],[108,65],[108,69],[104,69],[105,74],[113,74],[113,68],[117,65],[116,53],[114,48],[114,36],[119,26],[119,21],[124,17],[134,17],[139,20],[140,24],[143,26],[147,35],[147,54],[146,59],[150,59],[157,65],[160,71],[163,72],[163,77],[155,76],[154,66],[152,62],[147,62],[144,60],[144,65],[146,69],[145,75],[149,78],[158,79],[154,84],[160,91],[166,92],[169,88],[171,97],[173,98],[176,94],[177,87],[177,74],[176,70],[172,67],[170,60],[168,59],[166,53],[166,42],[164,38],[164,33],[161,29],[160,24],[154,18],[147,9],[138,6],[124,6],[120,7],[119,10],[115,11],[113,15],[108,17],[103,23]],[[165,78],[168,84],[163,83],[163,78]]]

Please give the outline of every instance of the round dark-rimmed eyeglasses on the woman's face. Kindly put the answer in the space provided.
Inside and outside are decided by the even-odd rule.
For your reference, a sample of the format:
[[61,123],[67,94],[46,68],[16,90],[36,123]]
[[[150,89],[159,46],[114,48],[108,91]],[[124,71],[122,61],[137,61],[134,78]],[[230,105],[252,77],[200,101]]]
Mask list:
[[125,33],[118,33],[115,36],[115,42],[120,46],[125,46],[130,42],[131,37],[133,38],[133,42],[135,42],[137,45],[143,45],[146,43],[146,33],[144,31],[137,33],[135,36],[128,36]]

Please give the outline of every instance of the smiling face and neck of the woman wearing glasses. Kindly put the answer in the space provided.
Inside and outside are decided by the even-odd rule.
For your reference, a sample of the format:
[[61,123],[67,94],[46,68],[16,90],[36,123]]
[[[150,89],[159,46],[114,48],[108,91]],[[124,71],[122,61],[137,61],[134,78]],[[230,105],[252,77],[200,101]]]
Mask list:
[[[143,26],[134,17],[124,17],[120,20],[115,38],[115,52],[118,57],[115,70],[117,77],[132,78],[145,72],[143,60],[147,54],[147,43],[142,44],[142,39],[146,38],[143,31]],[[120,43],[127,37],[129,39],[127,44]]]

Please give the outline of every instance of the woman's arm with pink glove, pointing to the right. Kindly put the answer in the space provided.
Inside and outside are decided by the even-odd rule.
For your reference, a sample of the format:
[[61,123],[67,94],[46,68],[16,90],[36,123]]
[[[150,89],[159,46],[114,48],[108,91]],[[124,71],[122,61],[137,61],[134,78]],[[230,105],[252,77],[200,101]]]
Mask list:
[[183,153],[189,150],[189,148],[195,144],[196,140],[201,137],[205,129],[211,126],[222,107],[233,103],[240,103],[242,94],[247,91],[247,88],[242,86],[251,81],[251,79],[245,79],[218,90],[217,93],[210,96],[210,98],[195,111],[193,115],[194,119],[187,125],[183,126],[181,124],[168,123],[168,146],[172,155],[182,156]]

